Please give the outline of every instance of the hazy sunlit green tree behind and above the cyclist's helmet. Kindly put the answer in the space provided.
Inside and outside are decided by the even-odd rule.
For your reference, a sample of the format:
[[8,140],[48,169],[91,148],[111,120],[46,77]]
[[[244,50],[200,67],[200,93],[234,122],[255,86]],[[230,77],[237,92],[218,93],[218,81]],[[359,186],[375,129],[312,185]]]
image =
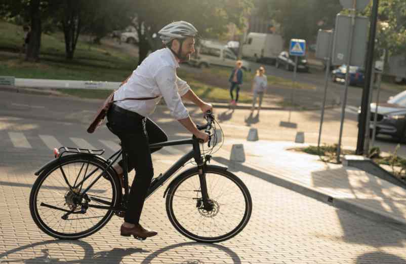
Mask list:
[[166,24],[184,20],[192,23],[203,37],[218,36],[227,31],[229,23],[241,28],[242,13],[251,5],[251,0],[134,1],[127,15],[132,18],[139,37],[138,63],[150,50],[162,47],[156,33]]

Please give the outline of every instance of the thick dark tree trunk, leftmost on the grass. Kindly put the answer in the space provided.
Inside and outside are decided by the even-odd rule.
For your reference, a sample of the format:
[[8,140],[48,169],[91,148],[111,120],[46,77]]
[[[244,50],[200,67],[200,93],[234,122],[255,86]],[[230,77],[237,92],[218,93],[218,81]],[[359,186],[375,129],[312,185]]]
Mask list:
[[31,30],[29,32],[28,47],[25,54],[25,59],[29,61],[38,61],[39,48],[41,46],[41,17],[39,11],[40,0],[30,1],[30,18]]

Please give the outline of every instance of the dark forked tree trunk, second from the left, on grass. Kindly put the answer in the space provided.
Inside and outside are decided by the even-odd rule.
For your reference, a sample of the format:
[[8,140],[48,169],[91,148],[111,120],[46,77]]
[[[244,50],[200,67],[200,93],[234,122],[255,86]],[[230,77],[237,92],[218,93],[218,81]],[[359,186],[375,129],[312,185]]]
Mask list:
[[63,33],[65,36],[65,56],[66,59],[73,59],[73,54],[76,48],[77,38],[80,33],[80,15],[79,9],[72,3],[71,0],[67,1],[65,15],[62,21]]

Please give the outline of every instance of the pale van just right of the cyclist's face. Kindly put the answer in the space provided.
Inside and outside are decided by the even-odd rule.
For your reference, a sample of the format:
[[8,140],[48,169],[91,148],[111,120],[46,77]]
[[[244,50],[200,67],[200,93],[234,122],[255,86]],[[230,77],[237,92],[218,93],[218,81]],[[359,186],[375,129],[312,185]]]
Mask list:
[[[211,65],[235,67],[237,57],[231,49],[224,44],[213,41],[200,41],[195,47],[196,52],[190,57],[189,64],[202,67],[210,67]],[[242,61],[243,70],[251,71],[248,61]]]

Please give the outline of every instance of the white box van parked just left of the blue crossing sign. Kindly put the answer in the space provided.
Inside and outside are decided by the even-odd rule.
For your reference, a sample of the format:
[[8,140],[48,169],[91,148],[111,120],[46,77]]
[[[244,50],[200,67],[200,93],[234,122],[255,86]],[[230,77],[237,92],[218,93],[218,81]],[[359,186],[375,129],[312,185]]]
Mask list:
[[274,64],[283,51],[283,39],[278,34],[248,33],[242,44],[242,57],[254,61]]

